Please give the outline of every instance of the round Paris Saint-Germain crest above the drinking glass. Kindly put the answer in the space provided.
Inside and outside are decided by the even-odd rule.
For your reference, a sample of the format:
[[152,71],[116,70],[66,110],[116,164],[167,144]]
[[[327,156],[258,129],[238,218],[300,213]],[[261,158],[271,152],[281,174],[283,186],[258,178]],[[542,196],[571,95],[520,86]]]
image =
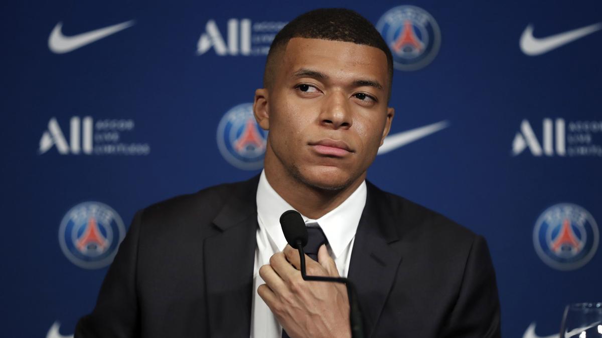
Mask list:
[[589,262],[598,248],[594,217],[576,204],[548,207],[535,223],[533,244],[539,257],[554,269],[568,271]]

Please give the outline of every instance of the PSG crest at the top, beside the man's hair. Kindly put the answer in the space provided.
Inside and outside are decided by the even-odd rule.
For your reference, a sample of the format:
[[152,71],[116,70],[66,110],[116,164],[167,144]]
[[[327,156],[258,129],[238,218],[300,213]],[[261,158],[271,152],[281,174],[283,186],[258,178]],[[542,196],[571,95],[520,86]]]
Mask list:
[[399,70],[417,70],[429,64],[441,46],[441,31],[433,17],[415,6],[391,8],[376,23]]

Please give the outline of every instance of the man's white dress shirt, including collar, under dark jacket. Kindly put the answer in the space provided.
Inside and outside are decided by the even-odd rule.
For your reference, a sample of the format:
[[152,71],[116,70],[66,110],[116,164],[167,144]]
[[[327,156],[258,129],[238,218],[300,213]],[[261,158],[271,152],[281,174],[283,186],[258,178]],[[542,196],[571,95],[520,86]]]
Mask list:
[[[347,277],[349,261],[359,218],[366,204],[366,183],[362,184],[340,206],[317,220],[303,216],[306,223],[320,224],[328,244],[328,253],[335,260],[342,277]],[[253,268],[253,303],[251,310],[251,338],[281,338],[282,326],[270,308],[257,294],[257,287],[265,282],[259,275],[259,268],[270,263],[273,254],[284,250],[287,240],[280,226],[280,216],[286,210],[293,209],[287,201],[267,182],[265,171],[261,173],[257,187],[257,247],[255,248],[255,267]]]

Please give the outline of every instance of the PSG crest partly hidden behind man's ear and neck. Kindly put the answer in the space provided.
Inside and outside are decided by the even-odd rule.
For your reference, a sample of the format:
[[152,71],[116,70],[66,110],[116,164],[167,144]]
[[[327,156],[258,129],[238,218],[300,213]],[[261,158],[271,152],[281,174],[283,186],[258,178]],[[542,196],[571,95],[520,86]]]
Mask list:
[[222,156],[239,169],[263,167],[267,131],[259,127],[253,116],[253,103],[242,103],[230,109],[217,126],[217,147]]

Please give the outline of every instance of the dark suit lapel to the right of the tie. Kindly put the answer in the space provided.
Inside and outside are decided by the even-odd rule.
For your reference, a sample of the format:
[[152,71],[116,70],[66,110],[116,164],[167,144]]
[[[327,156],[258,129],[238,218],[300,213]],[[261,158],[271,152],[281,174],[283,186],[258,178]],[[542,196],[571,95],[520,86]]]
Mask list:
[[359,220],[349,266],[350,280],[358,290],[364,331],[370,337],[393,286],[402,257],[397,250],[399,235],[386,208],[386,197],[367,182],[368,195]]

